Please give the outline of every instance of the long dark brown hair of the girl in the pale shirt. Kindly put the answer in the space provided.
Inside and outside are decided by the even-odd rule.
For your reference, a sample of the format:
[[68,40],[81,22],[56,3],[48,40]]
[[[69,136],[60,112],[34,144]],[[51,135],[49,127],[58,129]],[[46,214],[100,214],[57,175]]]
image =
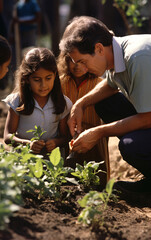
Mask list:
[[47,48],[33,48],[28,51],[16,71],[16,88],[14,91],[18,91],[20,95],[20,104],[16,110],[24,115],[30,115],[33,112],[35,103],[30,89],[29,76],[39,68],[52,71],[56,75],[50,96],[54,104],[54,113],[60,114],[65,109],[66,101],[61,90],[55,56]]

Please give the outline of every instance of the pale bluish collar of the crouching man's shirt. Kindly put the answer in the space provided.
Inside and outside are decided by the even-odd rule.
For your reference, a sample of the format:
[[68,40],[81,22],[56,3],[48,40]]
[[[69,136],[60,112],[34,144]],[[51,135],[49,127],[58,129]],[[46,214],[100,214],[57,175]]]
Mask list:
[[121,39],[120,37],[113,36],[113,54],[114,54],[115,73],[124,72],[126,69],[120,39]]

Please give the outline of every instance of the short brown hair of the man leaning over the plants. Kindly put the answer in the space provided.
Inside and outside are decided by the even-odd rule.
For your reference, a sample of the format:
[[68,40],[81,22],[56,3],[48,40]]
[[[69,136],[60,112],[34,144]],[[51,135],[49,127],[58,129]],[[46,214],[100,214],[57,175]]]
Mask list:
[[113,35],[113,32],[96,18],[89,16],[75,17],[66,27],[59,47],[61,51],[66,53],[70,53],[73,48],[77,48],[82,54],[93,54],[96,43],[110,46]]

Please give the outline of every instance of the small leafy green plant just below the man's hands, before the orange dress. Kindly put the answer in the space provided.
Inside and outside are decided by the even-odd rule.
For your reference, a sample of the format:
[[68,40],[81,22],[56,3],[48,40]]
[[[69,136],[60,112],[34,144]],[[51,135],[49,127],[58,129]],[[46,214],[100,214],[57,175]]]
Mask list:
[[79,182],[82,183],[85,187],[91,187],[92,185],[99,185],[100,178],[97,176],[99,172],[104,172],[102,170],[98,170],[99,165],[103,162],[86,162],[84,161],[84,165],[76,164],[75,172],[71,174],[79,179]]

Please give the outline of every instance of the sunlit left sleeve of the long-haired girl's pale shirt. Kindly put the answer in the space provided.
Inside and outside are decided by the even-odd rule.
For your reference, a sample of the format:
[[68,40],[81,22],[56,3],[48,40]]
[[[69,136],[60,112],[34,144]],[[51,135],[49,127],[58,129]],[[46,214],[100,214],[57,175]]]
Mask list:
[[14,112],[18,114],[18,112],[16,112],[16,108],[19,106],[19,95],[18,94],[10,94],[8,95],[5,99],[2,99],[3,102],[5,102],[7,104],[7,106],[11,107]]

